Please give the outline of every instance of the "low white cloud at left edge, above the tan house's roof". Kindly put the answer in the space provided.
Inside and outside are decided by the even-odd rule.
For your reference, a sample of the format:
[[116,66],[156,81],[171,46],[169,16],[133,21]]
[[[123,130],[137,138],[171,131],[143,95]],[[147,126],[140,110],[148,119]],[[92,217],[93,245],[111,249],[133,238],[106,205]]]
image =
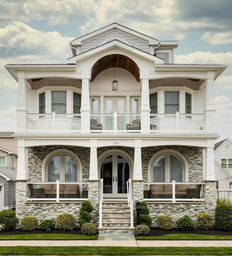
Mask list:
[[16,131],[16,107],[10,107],[5,111],[0,111],[1,125],[0,131]]

